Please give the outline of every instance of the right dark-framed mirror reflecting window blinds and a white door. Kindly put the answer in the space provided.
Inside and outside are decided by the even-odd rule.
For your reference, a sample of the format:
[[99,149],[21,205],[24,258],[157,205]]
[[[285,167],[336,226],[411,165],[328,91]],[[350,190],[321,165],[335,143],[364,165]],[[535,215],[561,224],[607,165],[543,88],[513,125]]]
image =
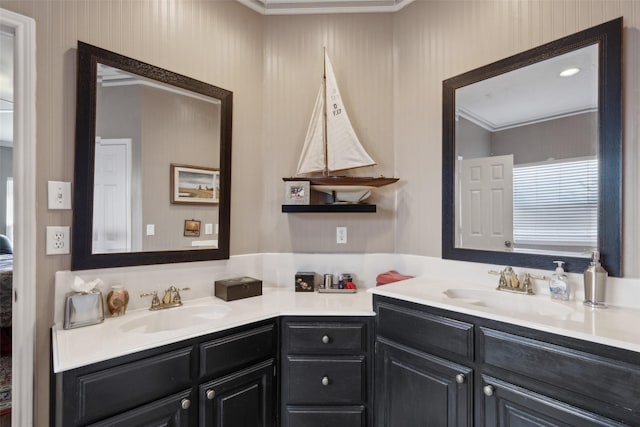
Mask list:
[[443,82],[443,258],[581,272],[598,249],[620,275],[621,36],[619,18]]

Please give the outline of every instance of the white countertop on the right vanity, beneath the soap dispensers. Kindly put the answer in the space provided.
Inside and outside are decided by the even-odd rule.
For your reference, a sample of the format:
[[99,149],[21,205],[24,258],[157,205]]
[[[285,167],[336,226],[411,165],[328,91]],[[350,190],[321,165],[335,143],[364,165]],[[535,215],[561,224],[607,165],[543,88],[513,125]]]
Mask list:
[[[450,298],[445,292],[469,298]],[[593,309],[581,300],[556,301],[549,295],[518,295],[495,287],[415,278],[369,292],[485,319],[640,352],[640,309],[608,306]],[[484,296],[488,296],[487,301]],[[485,305],[486,304],[486,305]]]

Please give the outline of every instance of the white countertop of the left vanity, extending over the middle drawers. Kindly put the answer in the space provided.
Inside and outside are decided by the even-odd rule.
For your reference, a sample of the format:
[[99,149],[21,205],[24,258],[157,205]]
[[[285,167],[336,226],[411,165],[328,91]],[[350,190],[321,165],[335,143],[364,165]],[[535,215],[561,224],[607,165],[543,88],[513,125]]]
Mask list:
[[[236,326],[277,316],[373,316],[371,294],[359,290],[354,294],[319,294],[294,292],[286,288],[263,288],[263,295],[225,302],[210,296],[183,301],[182,307],[157,312],[147,309],[127,311],[121,317],[106,318],[98,325],[62,329],[53,327],[53,371],[63,372],[126,354],[171,344]],[[218,319],[199,317],[198,323],[178,330],[154,333],[125,332],[127,324],[154,314],[171,311],[173,315],[190,306],[223,305],[230,310]]]

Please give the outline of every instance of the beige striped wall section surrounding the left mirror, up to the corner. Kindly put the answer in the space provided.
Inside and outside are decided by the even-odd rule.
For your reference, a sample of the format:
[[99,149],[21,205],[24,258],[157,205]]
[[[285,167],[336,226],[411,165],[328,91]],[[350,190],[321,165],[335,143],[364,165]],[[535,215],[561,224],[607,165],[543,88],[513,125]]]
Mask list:
[[[46,256],[46,225],[69,225],[70,211],[48,211],[46,182],[73,180],[75,48],[77,41],[112,50],[234,92],[233,192],[254,194],[262,159],[253,155],[262,128],[263,19],[233,0],[0,0],[0,7],[36,21],[37,49],[37,296],[36,425],[49,411],[49,328],[54,273],[70,256]],[[246,174],[243,171],[250,170]],[[253,180],[243,179],[253,175]],[[232,197],[232,235],[254,229],[255,198]],[[234,240],[237,242],[237,240]],[[258,252],[256,239],[233,253]]]

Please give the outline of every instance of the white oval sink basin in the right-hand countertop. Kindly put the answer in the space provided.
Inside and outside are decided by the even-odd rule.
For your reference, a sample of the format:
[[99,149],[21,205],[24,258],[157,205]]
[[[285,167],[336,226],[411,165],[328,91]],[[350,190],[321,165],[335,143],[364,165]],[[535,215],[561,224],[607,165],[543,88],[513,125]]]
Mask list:
[[452,299],[478,308],[520,314],[536,314],[555,318],[566,318],[574,308],[559,301],[525,294],[506,293],[498,290],[447,289],[444,294]]

